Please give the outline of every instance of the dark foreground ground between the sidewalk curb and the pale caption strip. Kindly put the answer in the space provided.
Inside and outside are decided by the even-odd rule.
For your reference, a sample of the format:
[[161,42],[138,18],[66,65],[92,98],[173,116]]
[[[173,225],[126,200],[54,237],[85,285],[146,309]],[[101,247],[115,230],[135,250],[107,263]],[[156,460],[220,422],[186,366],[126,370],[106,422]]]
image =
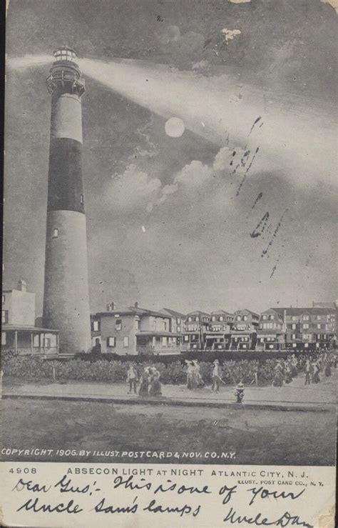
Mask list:
[[[208,459],[208,463],[334,464],[334,412],[232,411],[25,399],[5,399],[1,404],[2,447],[236,452],[235,459]],[[93,455],[53,460],[158,462]],[[178,463],[178,459],[165,462]],[[207,461],[203,458],[180,462]]]

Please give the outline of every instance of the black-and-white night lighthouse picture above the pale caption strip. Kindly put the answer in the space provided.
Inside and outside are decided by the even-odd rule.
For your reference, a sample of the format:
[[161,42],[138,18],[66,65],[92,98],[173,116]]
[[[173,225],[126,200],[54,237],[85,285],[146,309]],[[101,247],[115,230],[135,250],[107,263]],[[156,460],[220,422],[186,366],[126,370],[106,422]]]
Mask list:
[[334,467],[337,12],[7,1],[2,462]]

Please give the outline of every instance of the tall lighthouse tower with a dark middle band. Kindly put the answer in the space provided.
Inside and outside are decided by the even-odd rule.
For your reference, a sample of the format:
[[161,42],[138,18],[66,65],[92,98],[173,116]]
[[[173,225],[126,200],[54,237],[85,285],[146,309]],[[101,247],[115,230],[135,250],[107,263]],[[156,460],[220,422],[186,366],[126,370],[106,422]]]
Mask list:
[[60,332],[60,352],[91,347],[86,215],[82,183],[81,95],[76,51],[54,51],[51,94],[43,324]]

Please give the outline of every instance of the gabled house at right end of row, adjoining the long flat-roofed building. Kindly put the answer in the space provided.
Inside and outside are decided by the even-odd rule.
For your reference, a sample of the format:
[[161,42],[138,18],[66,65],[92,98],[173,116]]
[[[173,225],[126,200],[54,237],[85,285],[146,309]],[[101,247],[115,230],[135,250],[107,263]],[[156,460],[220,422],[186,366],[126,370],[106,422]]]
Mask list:
[[285,323],[283,316],[270,308],[260,314],[257,329],[257,350],[281,350],[285,348]]

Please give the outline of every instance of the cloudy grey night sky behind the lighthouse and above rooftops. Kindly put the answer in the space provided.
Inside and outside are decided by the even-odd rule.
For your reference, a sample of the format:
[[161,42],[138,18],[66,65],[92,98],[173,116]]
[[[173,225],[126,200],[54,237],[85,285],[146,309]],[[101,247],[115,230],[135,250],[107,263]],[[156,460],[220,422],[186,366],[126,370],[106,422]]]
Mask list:
[[[338,50],[332,5],[11,0],[6,39],[9,64],[26,54],[48,54],[52,61],[53,49],[68,44],[83,58],[140,66],[140,83],[147,71],[158,79],[168,72],[170,83],[158,93],[151,78],[147,85],[164,106],[166,86],[170,94],[169,86],[189,79],[207,94],[207,118],[220,96],[232,109],[217,133],[212,120],[210,129],[200,120],[199,131],[185,121],[180,101],[177,113],[161,114],[86,75],[83,180],[92,312],[111,301],[186,313],[260,312],[295,306],[297,299],[299,306],[336,299]],[[49,67],[9,66],[6,73],[4,286],[26,279],[36,292],[37,314]],[[243,101],[252,112],[241,111]],[[259,136],[256,143],[250,139],[256,102],[265,114],[257,114],[252,134],[273,133],[252,160],[260,147]],[[275,115],[283,126],[275,126]],[[169,117],[183,119],[180,137],[166,133]],[[236,119],[247,139],[231,136]],[[251,157],[234,173],[232,152],[237,148],[240,159],[249,139]]]

